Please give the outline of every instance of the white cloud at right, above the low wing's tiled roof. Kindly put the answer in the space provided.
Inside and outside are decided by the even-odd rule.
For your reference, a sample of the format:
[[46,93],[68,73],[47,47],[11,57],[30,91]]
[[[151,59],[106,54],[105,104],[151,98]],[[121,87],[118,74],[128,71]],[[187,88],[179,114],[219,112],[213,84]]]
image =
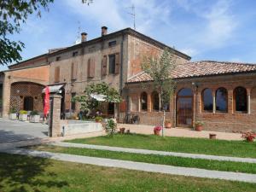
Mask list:
[[183,46],[188,53],[196,55],[199,51],[193,50],[203,53],[230,44],[239,25],[230,11],[230,0],[218,0],[213,4],[201,0],[177,0],[177,4],[198,19],[190,24],[188,44]]

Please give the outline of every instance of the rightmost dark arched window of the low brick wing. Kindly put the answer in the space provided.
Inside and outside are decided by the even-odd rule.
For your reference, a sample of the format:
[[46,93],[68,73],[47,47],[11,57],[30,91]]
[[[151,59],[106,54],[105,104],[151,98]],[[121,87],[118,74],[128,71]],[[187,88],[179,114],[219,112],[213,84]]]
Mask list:
[[236,87],[234,98],[236,111],[247,112],[247,90],[244,87]]

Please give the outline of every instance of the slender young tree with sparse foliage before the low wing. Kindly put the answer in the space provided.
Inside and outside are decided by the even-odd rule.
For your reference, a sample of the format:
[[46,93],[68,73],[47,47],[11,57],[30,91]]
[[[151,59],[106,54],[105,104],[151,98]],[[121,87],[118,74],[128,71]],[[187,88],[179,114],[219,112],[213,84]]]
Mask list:
[[[176,57],[171,49],[164,49],[160,56],[144,56],[142,62],[142,69],[147,73],[153,82],[154,89],[160,93],[160,109],[163,111],[163,128],[166,119],[166,107],[170,102],[175,82],[172,79],[171,73],[176,68]],[[162,136],[164,136],[164,129],[162,129]]]

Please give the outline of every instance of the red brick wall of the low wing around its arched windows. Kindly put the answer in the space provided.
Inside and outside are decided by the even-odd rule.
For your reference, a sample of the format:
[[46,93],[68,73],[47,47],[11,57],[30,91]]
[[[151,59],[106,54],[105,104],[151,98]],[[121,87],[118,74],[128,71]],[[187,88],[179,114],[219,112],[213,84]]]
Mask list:
[[[166,113],[166,119],[172,120],[172,126],[177,126],[177,93],[183,88],[193,91],[193,122],[201,120],[204,122],[204,129],[209,131],[256,131],[256,74],[233,74],[197,79],[177,80],[177,89],[174,96],[170,98],[170,112]],[[236,112],[234,90],[242,86],[247,89],[247,96],[250,97],[250,106],[246,113]],[[149,86],[150,87],[150,86]],[[207,113],[203,111],[201,92],[207,88],[212,94],[220,88],[228,90],[228,112]],[[153,89],[143,90],[143,84],[128,84],[130,106],[129,112],[140,117],[143,125],[160,125],[162,113],[152,111],[150,94]],[[139,98],[143,91],[148,93],[148,111],[140,109]],[[249,102],[247,102],[249,103]],[[122,117],[125,117],[124,114]]]

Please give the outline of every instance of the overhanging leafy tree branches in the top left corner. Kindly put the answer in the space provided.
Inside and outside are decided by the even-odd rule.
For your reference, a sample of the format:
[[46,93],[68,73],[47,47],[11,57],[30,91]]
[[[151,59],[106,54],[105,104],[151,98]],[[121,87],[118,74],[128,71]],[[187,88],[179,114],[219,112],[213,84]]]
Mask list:
[[[49,9],[49,3],[54,0],[1,0],[0,1],[0,64],[20,61],[21,50],[25,45],[13,41],[9,37],[20,32],[20,24],[26,23],[28,15],[36,13],[41,16],[40,9]],[[92,0],[82,0],[91,3]]]

